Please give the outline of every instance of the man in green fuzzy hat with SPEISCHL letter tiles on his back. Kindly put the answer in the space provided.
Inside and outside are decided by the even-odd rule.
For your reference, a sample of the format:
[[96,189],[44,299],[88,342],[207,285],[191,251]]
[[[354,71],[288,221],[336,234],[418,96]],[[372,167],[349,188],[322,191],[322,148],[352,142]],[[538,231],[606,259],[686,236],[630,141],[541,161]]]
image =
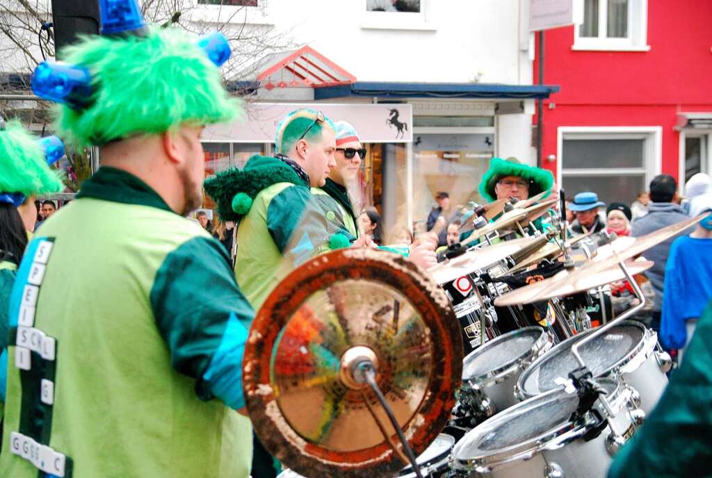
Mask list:
[[127,26],[110,13],[139,10],[122,6],[101,12],[110,36],[66,50],[73,66],[33,76],[64,102],[59,134],[98,145],[102,166],[17,272],[0,476],[246,478],[251,425],[235,410],[253,310],[222,245],[184,218],[202,128],[239,114],[216,68],[229,47],[140,14]]

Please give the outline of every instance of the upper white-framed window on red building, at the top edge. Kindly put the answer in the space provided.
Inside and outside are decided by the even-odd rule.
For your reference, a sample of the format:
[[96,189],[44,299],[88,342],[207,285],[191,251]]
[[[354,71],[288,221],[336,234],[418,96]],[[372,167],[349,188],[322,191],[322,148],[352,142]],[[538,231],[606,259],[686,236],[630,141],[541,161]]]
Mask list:
[[582,0],[575,50],[647,51],[647,0]]

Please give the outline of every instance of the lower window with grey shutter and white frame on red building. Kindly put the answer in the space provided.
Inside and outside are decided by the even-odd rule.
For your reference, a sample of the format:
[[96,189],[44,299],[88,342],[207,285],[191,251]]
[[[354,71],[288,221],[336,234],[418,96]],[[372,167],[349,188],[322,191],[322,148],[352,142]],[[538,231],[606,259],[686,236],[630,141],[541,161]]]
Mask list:
[[632,203],[656,172],[660,134],[634,130],[564,132],[560,178],[566,195],[593,191],[606,203]]

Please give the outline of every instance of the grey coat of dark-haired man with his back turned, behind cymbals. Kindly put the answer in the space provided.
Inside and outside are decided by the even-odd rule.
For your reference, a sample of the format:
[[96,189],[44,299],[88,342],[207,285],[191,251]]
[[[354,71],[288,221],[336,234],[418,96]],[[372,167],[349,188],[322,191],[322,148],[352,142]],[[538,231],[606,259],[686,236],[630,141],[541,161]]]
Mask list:
[[[631,226],[631,233],[634,238],[652,233],[671,224],[679,223],[689,219],[683,208],[676,203],[650,203],[648,213],[642,218],[638,218]],[[665,264],[667,262],[670,245],[675,238],[681,235],[692,233],[695,228],[689,228],[679,233],[673,238],[659,243],[653,248],[646,250],[643,255],[647,260],[652,260],[655,265],[643,274],[650,280],[655,290],[655,304],[653,310],[660,312],[663,304],[663,285],[665,283]]]

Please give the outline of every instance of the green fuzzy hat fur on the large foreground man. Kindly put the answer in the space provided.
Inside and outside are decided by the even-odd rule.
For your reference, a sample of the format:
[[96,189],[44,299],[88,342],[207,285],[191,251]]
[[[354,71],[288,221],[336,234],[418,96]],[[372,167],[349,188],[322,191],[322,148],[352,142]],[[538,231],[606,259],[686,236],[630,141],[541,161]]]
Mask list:
[[63,54],[68,63],[88,68],[94,91],[83,110],[56,106],[58,134],[77,146],[241,115],[218,68],[195,38],[176,28],[151,27],[147,36],[85,36]]

